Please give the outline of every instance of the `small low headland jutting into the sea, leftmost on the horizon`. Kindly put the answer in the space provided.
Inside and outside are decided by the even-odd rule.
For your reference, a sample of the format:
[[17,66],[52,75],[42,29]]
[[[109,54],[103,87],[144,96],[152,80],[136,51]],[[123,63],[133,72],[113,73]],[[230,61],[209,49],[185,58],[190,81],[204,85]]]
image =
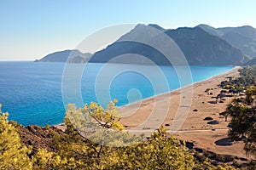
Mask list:
[[42,59],[37,59],[36,62],[66,62],[68,59],[69,63],[84,63],[90,59],[90,56],[91,54],[83,54],[77,49],[68,49],[48,54]]

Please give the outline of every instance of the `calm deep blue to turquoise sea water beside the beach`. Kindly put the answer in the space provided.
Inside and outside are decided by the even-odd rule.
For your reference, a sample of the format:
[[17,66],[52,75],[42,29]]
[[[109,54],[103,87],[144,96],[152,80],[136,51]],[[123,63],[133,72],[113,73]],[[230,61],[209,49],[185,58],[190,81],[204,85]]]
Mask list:
[[[89,64],[84,68],[81,64],[67,65],[66,69],[69,70],[66,70],[68,72],[64,77],[79,77],[81,93],[76,91],[75,86],[72,90],[64,89],[64,93],[81,94],[84,103],[95,101],[106,106],[109,100],[119,99],[118,105],[127,105],[234,68],[190,66],[192,77],[189,77],[188,72],[184,72],[186,69],[181,66],[177,70],[183,78],[179,78],[172,66],[103,66],[104,64]],[[65,115],[61,87],[67,85],[61,84],[64,68],[64,63],[0,62],[0,103],[3,104],[2,110],[9,112],[9,120],[15,120],[24,126],[61,123]],[[82,75],[79,73],[81,70]],[[189,81],[190,78],[192,81]],[[73,85],[72,81],[70,85]],[[75,103],[76,99],[71,96],[67,101]]]

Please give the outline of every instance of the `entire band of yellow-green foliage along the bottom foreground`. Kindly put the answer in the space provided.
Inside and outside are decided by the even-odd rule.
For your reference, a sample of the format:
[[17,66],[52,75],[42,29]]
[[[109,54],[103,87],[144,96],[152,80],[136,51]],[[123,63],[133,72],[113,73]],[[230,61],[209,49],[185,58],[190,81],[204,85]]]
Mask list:
[[[84,117],[90,117],[90,120]],[[122,145],[124,143],[120,141],[136,141],[137,138],[118,133],[113,136],[113,142],[119,143],[119,147],[96,143],[82,137],[76,130],[83,130],[81,125],[87,122],[121,132],[123,126],[119,123],[115,103],[110,103],[105,111],[95,103],[82,109],[69,105],[65,117],[67,130],[65,133],[53,133],[50,141],[50,148],[54,151],[39,149],[32,159],[27,156],[29,150],[21,146],[20,137],[7,118],[7,113],[0,116],[0,169],[234,169],[228,165],[213,167],[209,161],[195,165],[194,156],[179,140],[167,136],[164,127],[149,139],[130,145]],[[99,135],[96,133],[94,137]]]

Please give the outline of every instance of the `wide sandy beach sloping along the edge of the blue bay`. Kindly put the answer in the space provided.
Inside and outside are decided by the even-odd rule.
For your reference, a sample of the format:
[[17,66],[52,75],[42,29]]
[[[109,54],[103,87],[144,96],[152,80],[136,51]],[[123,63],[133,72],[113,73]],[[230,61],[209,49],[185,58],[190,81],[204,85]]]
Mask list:
[[[222,90],[218,84],[227,80],[226,77],[239,77],[238,69],[239,67],[235,67],[231,71],[205,81],[195,82],[193,85],[170,93],[122,106],[118,108],[122,115],[121,122],[127,129],[138,132],[152,132],[157,126],[163,124],[168,133],[173,133],[177,139],[193,142],[195,147],[218,154],[246,157],[242,142],[229,144],[226,141],[230,117],[225,122],[224,116],[219,115],[225,111],[226,105],[230,104],[232,97],[224,97],[223,101],[221,103],[218,101],[217,104],[214,99]],[[207,88],[210,90],[205,92]],[[182,116],[177,117],[180,114]],[[212,121],[216,121],[218,124],[205,121],[207,116],[212,117]],[[172,123],[180,118],[182,118],[179,120],[181,125],[177,126],[178,128],[173,127]],[[173,131],[173,129],[175,130]]]

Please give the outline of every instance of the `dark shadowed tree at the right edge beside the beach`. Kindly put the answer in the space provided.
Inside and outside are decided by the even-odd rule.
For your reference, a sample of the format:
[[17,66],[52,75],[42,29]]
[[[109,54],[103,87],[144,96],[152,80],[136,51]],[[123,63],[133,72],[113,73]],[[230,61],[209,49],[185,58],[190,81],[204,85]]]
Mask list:
[[246,97],[233,99],[226,108],[225,116],[231,116],[229,135],[231,139],[243,139],[247,154],[256,156],[256,65],[245,66],[240,70],[240,77],[220,83],[229,93],[238,94],[246,91]]

